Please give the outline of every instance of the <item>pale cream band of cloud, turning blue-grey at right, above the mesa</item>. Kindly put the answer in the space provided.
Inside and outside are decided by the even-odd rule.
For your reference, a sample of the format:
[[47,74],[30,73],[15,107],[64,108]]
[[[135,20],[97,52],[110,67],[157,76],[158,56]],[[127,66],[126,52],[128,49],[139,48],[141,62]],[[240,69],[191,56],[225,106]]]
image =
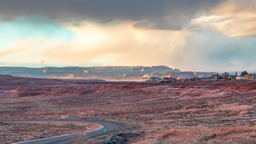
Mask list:
[[228,37],[211,31],[136,29],[133,25],[133,22],[69,25],[66,28],[75,34],[72,41],[24,40],[31,44],[24,42],[8,47],[6,50],[11,51],[1,60],[40,62],[44,59],[47,63],[38,63],[42,66],[167,65],[184,71],[255,70],[254,37]]

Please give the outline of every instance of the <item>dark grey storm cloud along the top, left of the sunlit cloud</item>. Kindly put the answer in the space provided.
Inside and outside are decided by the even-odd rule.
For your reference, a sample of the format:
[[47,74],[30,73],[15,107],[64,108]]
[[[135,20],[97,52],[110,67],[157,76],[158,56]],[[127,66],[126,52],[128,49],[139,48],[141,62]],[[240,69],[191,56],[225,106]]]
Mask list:
[[135,27],[180,29],[197,13],[223,0],[8,0],[0,2],[4,20],[18,16],[43,16],[54,21],[137,21]]

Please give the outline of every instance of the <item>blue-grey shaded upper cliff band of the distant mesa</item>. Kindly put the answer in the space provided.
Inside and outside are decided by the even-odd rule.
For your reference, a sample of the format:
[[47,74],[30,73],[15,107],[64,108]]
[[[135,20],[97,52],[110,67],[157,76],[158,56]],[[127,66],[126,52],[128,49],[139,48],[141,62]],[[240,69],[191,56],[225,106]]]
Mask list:
[[162,73],[165,71],[179,72],[179,69],[172,69],[166,66],[153,67],[0,67],[0,74],[11,75],[51,75],[51,74],[133,74],[133,73]]

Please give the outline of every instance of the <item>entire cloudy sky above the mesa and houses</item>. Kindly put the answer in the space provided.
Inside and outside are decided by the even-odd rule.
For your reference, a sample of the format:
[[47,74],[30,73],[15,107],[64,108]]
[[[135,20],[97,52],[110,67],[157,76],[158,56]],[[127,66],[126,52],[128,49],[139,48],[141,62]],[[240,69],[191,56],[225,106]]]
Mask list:
[[0,67],[256,71],[255,0],[8,0]]

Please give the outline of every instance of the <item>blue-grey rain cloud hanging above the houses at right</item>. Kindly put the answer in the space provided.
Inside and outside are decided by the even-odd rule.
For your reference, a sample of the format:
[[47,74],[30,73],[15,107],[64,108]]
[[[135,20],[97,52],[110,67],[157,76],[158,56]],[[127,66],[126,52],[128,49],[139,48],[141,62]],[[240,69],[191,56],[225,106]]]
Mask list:
[[197,71],[255,71],[254,45],[254,37],[199,31],[186,40],[183,67]]

